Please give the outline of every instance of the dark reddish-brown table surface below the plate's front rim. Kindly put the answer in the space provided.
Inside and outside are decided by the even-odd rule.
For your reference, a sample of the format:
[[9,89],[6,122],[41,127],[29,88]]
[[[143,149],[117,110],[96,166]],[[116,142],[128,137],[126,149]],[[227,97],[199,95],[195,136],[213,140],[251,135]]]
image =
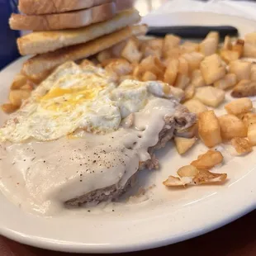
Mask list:
[[[159,249],[135,252],[126,255],[192,255],[197,256],[255,256],[256,255],[256,211],[235,220],[229,225],[190,239],[182,243],[169,245]],[[59,252],[36,249],[18,244],[0,236],[1,256],[68,256]],[[121,255],[121,254],[117,254]]]

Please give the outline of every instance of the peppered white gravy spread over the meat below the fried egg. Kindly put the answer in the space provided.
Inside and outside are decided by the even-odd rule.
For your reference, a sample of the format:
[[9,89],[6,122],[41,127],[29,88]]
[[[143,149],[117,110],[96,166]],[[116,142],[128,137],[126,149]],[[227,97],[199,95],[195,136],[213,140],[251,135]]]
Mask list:
[[134,114],[130,128],[107,135],[83,132],[76,138],[0,145],[0,189],[24,210],[52,216],[64,201],[119,183],[124,187],[148,149],[159,141],[164,116],[177,102],[153,98]]

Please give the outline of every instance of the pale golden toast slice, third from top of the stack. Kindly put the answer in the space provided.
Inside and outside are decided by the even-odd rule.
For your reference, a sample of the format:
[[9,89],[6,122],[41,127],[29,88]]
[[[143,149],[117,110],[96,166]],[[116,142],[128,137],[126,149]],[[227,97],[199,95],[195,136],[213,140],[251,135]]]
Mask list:
[[125,26],[140,21],[140,14],[135,9],[120,12],[109,21],[102,21],[91,26],[64,31],[37,31],[17,40],[21,55],[39,55],[69,45],[78,45],[110,34]]

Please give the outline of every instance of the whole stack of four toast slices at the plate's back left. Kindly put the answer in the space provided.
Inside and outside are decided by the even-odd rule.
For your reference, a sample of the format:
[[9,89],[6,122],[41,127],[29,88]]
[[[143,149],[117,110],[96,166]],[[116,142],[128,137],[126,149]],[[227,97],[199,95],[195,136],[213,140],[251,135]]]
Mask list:
[[17,40],[27,78],[43,78],[59,64],[95,55],[130,36],[144,35],[133,26],[140,14],[132,0],[20,0],[21,14],[12,14],[13,30],[32,31]]

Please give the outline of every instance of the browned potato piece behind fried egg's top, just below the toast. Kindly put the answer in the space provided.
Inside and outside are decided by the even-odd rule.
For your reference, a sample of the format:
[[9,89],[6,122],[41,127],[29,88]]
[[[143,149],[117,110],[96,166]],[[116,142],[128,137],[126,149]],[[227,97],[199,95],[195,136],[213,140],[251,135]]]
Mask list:
[[116,73],[117,76],[123,76],[132,73],[133,66],[126,59],[112,59],[105,69]]

